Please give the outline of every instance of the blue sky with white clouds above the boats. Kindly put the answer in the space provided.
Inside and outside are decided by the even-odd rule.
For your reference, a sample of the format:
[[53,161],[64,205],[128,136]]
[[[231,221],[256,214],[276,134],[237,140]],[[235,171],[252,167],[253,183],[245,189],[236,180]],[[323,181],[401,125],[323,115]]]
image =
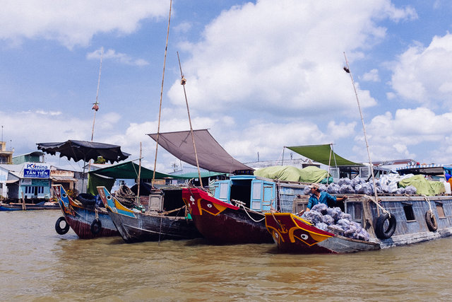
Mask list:
[[[371,161],[452,163],[451,1],[173,0],[165,74],[169,0],[0,6],[1,139],[14,155],[90,141],[95,117],[93,141],[132,160],[142,144],[153,169],[160,95],[160,132],[190,127],[179,53],[193,128],[243,163],[311,144],[368,162],[364,129]],[[157,171],[174,164],[157,149]]]

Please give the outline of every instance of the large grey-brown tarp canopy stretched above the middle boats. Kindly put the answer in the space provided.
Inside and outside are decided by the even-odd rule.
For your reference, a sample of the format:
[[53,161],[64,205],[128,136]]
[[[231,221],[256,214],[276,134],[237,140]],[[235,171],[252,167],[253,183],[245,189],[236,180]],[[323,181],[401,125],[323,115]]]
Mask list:
[[[207,129],[194,130],[196,153],[199,167],[220,173],[232,173],[236,170],[253,170],[240,163],[218,144]],[[148,134],[157,141],[157,134]],[[190,131],[160,133],[158,144],[181,161],[196,167],[196,157]]]

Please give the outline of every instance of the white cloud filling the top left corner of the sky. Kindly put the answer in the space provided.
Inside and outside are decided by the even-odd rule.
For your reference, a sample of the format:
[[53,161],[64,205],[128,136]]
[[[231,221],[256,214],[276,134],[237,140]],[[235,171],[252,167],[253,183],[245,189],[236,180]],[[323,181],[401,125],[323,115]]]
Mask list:
[[68,48],[89,45],[97,33],[133,33],[145,18],[167,16],[164,1],[14,1],[1,2],[0,39],[57,40]]

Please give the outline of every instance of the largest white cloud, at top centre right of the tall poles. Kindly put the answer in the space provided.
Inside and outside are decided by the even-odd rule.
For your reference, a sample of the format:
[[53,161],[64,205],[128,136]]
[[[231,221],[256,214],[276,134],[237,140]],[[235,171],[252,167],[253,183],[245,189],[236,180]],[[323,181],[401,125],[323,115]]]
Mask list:
[[[362,57],[360,49],[386,35],[374,20],[414,18],[412,8],[390,1],[257,1],[223,11],[203,40],[183,42],[191,53],[184,62],[191,104],[204,112],[263,109],[273,115],[350,115],[355,106],[350,79],[342,69],[343,52]],[[373,80],[376,79],[374,74]],[[368,91],[358,93],[364,108],[376,105]],[[179,102],[179,83],[169,96]]]

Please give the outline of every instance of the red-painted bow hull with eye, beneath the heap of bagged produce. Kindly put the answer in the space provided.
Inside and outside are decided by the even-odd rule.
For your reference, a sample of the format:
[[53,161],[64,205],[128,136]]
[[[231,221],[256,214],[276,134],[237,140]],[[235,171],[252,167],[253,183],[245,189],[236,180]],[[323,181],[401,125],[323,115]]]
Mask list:
[[338,236],[290,213],[266,214],[266,226],[278,249],[297,254],[379,250],[379,243]]

